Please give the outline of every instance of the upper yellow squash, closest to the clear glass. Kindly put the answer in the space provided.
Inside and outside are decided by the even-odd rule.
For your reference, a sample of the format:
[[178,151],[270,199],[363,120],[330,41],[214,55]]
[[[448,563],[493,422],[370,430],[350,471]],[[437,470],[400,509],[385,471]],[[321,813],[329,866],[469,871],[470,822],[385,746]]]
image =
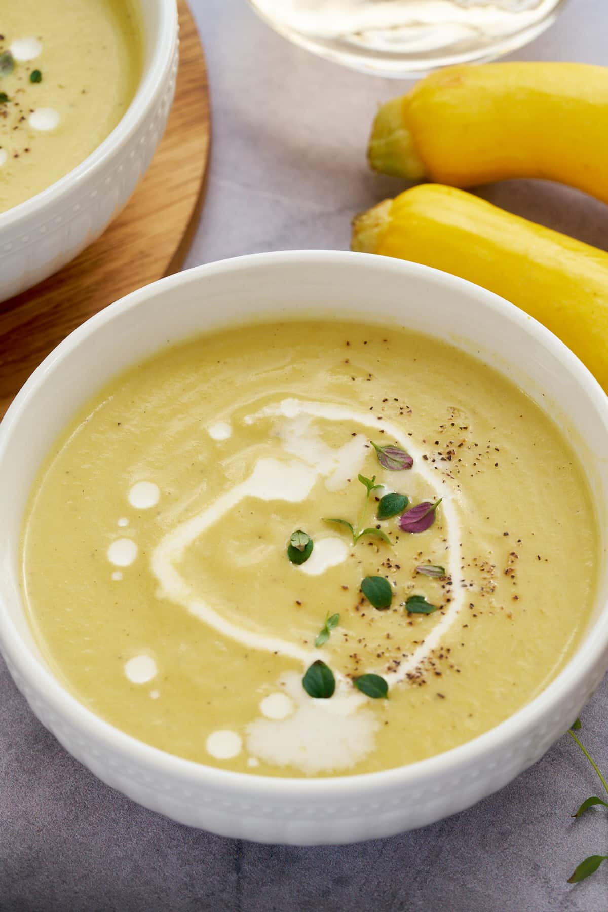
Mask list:
[[454,187],[532,177],[608,202],[608,67],[448,67],[377,113],[376,171]]

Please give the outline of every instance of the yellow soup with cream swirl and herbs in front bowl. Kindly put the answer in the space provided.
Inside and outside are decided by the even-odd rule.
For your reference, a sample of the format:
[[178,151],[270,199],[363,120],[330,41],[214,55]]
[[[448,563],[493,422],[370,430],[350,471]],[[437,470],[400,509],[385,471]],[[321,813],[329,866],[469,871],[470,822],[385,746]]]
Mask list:
[[199,337],[90,400],[23,538],[36,637],[141,741],[273,776],[447,751],[531,700],[590,616],[561,432],[454,347],[286,322]]

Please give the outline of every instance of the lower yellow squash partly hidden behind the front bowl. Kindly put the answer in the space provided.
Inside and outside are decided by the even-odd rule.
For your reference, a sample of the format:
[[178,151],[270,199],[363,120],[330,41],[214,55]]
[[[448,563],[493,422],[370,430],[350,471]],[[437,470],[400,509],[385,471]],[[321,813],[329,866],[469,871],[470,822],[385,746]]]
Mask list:
[[460,275],[536,317],[608,392],[608,254],[452,187],[422,184],[357,216],[353,250]]

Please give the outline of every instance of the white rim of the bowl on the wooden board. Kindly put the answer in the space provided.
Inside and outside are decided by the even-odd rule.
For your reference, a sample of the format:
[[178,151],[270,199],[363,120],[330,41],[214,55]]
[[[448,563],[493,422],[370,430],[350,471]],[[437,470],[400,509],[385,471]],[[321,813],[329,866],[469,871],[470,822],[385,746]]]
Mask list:
[[[129,108],[119,119],[114,130],[72,171],[68,171],[58,181],[28,200],[18,203],[11,209],[7,209],[6,212],[0,212],[0,234],[5,228],[18,224],[21,219],[25,220],[36,215],[36,212],[44,210],[47,205],[51,206],[67,189],[76,190],[88,178],[91,171],[95,171],[119,155],[123,146],[139,130],[141,122],[148,116],[149,109],[163,88],[178,36],[177,0],[157,0],[157,6],[159,10],[158,40],[153,48],[149,65],[145,68],[143,78],[139,80],[139,86]],[[140,14],[143,16],[141,9]]]

